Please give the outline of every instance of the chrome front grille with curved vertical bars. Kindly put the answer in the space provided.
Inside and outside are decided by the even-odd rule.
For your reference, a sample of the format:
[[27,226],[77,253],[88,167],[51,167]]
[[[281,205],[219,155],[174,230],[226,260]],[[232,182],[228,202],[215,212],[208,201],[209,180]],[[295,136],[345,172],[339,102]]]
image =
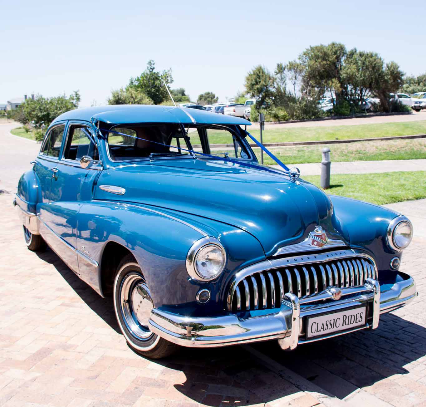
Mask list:
[[231,287],[228,310],[279,308],[281,298],[287,292],[302,298],[330,286],[360,286],[368,277],[377,279],[377,268],[370,257],[361,255],[256,271]]

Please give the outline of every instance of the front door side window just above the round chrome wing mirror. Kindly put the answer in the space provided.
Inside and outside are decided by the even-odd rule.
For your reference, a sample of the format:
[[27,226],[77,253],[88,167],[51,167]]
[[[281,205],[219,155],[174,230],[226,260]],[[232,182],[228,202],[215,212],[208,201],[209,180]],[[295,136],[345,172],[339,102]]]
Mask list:
[[99,160],[95,136],[89,127],[80,124],[71,124],[69,126],[68,142],[64,158],[80,161],[83,156],[89,156],[94,160]]

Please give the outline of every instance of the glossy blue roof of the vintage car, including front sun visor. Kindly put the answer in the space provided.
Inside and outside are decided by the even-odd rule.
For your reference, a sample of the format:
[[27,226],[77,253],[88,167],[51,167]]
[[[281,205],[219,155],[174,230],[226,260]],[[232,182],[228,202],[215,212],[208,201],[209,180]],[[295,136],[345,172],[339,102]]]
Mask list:
[[52,122],[61,120],[103,121],[109,124],[125,123],[200,123],[200,124],[242,124],[250,125],[250,121],[240,117],[217,115],[205,110],[175,106],[159,106],[144,104],[118,104],[86,107],[69,110]]

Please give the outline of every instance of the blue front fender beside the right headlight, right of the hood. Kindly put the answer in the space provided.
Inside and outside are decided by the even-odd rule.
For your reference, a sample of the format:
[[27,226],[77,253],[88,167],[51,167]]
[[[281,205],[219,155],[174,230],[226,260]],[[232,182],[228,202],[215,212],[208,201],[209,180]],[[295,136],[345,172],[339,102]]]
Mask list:
[[387,208],[342,196],[330,196],[334,211],[348,230],[351,247],[368,251],[378,270],[388,270],[392,257],[399,256],[386,243],[389,222],[398,214]]

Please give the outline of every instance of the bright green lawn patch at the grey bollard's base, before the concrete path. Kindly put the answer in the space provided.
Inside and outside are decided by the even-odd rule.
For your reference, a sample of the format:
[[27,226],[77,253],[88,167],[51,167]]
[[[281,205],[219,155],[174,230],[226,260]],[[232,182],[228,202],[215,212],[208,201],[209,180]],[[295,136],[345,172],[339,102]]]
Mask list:
[[[320,176],[303,177],[320,187]],[[426,198],[426,171],[332,175],[326,193],[378,205]]]

